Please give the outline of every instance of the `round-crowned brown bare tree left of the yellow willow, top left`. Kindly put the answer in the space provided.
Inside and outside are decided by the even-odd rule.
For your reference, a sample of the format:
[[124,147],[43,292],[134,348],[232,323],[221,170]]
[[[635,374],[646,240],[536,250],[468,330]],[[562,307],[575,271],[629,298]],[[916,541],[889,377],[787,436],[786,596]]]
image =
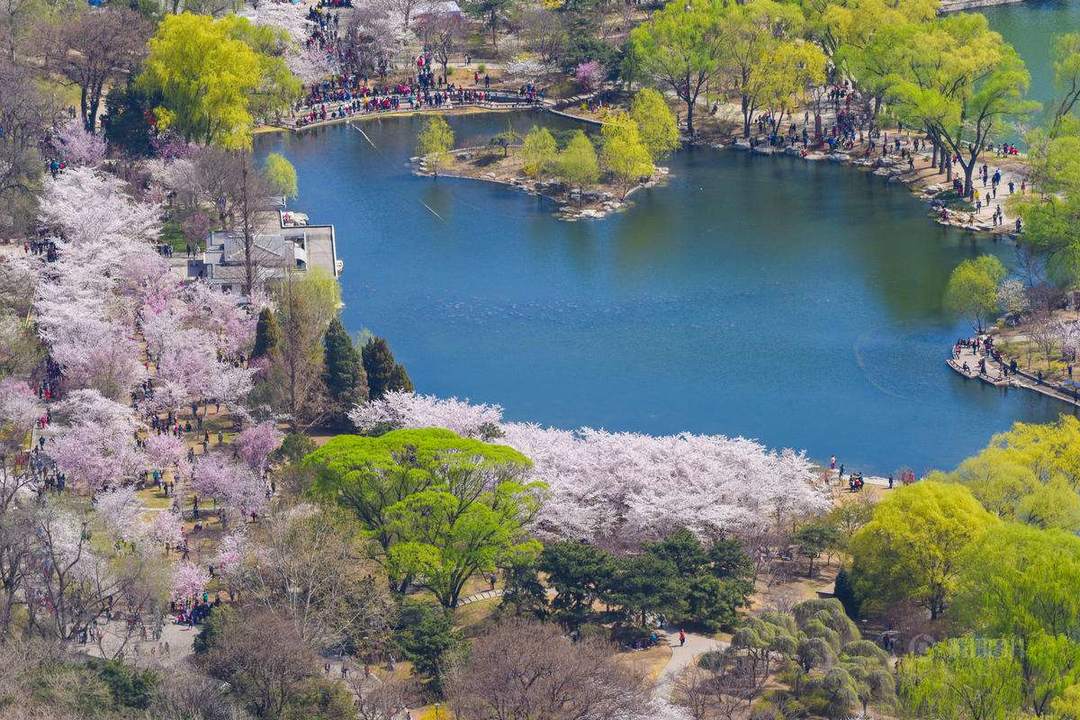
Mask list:
[[79,112],[87,132],[97,127],[105,86],[135,68],[149,36],[150,26],[141,15],[111,5],[85,10],[59,24],[49,65],[79,87]]

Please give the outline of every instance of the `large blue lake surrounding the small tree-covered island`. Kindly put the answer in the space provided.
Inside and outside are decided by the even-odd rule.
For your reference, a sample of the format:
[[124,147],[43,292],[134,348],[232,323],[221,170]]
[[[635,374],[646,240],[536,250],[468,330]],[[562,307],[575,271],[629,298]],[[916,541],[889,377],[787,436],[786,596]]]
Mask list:
[[[453,118],[458,145],[546,116]],[[420,392],[564,427],[724,433],[874,473],[949,467],[1062,406],[944,359],[962,259],[1005,243],[943,229],[905,189],[828,163],[696,149],[629,212],[566,222],[517,190],[415,177],[418,119],[259,151],[294,206],[337,226],[345,322],[390,339]],[[556,123],[558,124],[558,123]]]

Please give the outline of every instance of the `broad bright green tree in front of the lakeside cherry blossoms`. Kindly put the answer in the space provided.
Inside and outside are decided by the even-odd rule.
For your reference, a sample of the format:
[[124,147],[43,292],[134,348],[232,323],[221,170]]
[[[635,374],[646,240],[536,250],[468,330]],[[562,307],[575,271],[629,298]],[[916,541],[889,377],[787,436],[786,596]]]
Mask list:
[[539,552],[525,528],[546,486],[507,446],[399,430],[335,437],[305,462],[318,472],[315,493],[351,510],[382,548],[391,580],[426,587],[448,608],[472,575]]

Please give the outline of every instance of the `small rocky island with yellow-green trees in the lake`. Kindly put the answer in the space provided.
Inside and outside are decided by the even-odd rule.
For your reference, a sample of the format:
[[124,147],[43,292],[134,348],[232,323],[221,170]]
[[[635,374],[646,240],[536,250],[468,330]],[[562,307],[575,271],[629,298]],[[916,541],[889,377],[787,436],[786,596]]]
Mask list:
[[[656,97],[652,97],[656,95]],[[654,91],[637,94],[630,111],[609,113],[598,136],[582,130],[553,134],[532,126],[524,135],[513,128],[486,146],[454,148],[454,132],[432,117],[419,134],[417,173],[501,182],[553,200],[559,217],[604,217],[627,206],[640,188],[667,176],[657,161],[678,147],[675,118]]]

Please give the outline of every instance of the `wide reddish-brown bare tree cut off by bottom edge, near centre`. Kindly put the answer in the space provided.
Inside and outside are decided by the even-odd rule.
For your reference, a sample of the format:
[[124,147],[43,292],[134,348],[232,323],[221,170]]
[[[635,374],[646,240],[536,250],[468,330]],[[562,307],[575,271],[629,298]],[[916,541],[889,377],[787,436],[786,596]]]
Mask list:
[[457,717],[471,720],[651,718],[644,674],[612,657],[611,647],[572,643],[555,625],[507,620],[477,638],[449,673]]

